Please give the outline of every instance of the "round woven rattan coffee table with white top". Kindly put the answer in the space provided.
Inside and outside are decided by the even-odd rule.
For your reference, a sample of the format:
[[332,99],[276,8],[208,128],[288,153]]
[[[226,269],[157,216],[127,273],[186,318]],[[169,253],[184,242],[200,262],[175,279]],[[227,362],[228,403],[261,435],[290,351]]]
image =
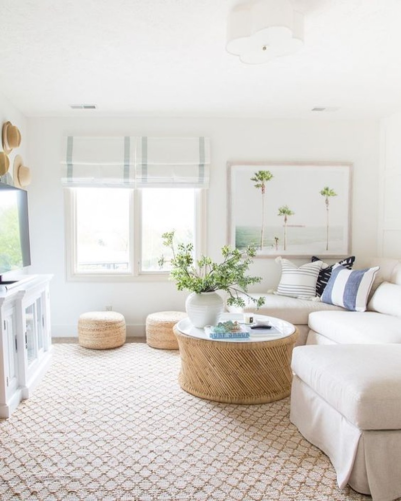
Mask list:
[[[242,315],[223,313],[220,320],[240,320]],[[247,339],[210,339],[189,319],[174,326],[181,357],[178,382],[186,392],[216,402],[257,404],[290,394],[291,355],[298,331],[274,317],[269,331],[250,330]],[[261,331],[259,331],[261,332]]]

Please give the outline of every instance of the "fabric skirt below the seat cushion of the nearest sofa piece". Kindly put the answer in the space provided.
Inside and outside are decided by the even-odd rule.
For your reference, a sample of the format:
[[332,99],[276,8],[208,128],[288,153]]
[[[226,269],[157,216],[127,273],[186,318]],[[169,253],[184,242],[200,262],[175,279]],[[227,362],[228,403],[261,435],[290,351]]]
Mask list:
[[340,489],[349,484],[373,501],[401,496],[401,430],[359,430],[298,376],[291,388],[290,421],[329,456]]

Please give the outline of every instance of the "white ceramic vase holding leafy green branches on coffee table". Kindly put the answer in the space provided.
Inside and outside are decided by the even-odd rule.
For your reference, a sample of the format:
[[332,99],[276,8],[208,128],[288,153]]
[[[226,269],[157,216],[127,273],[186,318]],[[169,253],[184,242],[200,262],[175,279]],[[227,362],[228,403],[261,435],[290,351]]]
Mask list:
[[205,325],[216,325],[224,310],[224,301],[217,292],[192,292],[185,302],[185,309],[191,324],[203,328]]

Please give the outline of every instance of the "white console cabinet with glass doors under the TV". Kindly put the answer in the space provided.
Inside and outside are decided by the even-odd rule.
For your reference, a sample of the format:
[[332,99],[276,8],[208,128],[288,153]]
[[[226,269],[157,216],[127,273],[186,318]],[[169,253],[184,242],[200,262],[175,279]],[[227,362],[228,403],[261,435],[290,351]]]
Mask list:
[[29,398],[50,363],[51,278],[27,275],[0,285],[0,418]]

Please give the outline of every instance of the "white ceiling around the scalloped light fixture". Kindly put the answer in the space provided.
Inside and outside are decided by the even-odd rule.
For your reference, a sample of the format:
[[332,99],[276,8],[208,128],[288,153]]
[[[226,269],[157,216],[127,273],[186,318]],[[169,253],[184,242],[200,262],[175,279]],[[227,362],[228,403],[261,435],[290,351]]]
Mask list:
[[[245,65],[236,0],[1,0],[0,90],[27,116],[370,118],[401,109],[401,0],[294,0],[305,44]],[[70,110],[70,104],[98,109]]]

